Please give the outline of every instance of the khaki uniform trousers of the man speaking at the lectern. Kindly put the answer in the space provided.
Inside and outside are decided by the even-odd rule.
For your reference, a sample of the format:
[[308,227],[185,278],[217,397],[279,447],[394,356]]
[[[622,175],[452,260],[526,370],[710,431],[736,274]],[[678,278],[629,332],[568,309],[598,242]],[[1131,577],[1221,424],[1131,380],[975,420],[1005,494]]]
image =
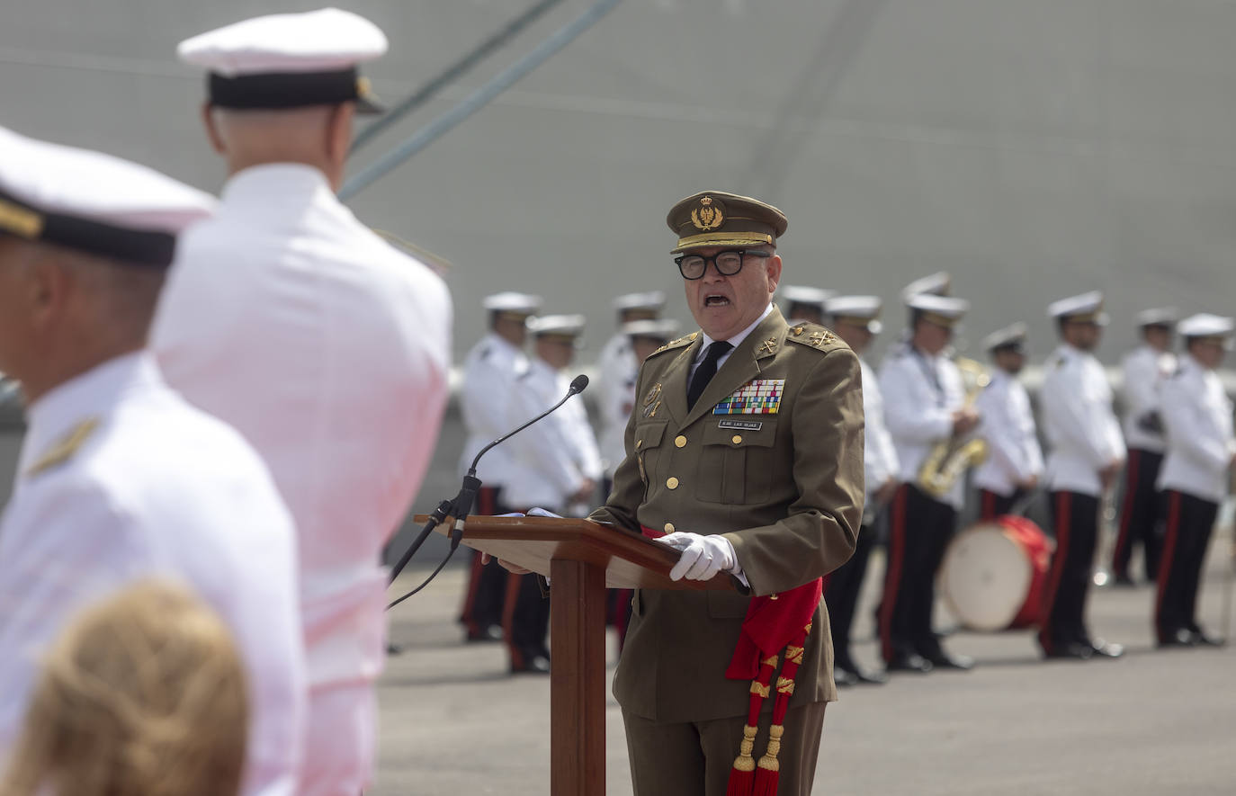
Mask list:
[[[810,796],[827,702],[791,708],[777,754],[777,796]],[[661,724],[623,711],[635,796],[726,796],[745,717]],[[753,756],[768,748],[771,713],[760,716]]]

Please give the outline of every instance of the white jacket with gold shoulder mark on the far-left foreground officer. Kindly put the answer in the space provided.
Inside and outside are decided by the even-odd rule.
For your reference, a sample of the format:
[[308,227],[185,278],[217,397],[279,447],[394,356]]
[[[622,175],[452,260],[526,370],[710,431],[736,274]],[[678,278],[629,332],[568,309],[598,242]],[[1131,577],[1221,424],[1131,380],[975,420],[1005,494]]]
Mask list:
[[0,522],[0,752],[66,622],[150,576],[187,583],[231,629],[251,693],[245,794],[295,794],[305,721],[295,534],[236,431],[122,356],[31,405]]

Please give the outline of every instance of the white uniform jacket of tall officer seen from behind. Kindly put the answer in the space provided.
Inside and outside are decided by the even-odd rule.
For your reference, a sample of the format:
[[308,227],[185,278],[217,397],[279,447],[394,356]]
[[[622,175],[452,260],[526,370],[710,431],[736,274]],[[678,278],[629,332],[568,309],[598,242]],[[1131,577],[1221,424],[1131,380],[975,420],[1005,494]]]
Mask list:
[[168,382],[253,444],[295,519],[303,794],[368,780],[386,658],[381,555],[438,442],[450,328],[442,281],[294,163],[229,179],[215,216],[180,237],[163,290],[152,345]]

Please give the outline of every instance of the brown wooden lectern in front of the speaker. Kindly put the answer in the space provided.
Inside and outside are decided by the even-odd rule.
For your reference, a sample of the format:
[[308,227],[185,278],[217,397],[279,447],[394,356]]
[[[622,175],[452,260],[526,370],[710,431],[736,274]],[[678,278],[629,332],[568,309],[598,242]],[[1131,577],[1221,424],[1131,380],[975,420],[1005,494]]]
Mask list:
[[671,581],[676,550],[586,519],[470,515],[464,544],[550,576],[550,792],[604,794],[606,588],[733,591],[733,581]]

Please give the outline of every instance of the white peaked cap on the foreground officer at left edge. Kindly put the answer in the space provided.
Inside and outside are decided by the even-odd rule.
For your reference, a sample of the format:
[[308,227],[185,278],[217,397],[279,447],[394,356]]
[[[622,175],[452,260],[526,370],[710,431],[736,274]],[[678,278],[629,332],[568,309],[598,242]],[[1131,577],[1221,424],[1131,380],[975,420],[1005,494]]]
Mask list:
[[0,127],[0,234],[166,267],[215,199],[152,168]]

